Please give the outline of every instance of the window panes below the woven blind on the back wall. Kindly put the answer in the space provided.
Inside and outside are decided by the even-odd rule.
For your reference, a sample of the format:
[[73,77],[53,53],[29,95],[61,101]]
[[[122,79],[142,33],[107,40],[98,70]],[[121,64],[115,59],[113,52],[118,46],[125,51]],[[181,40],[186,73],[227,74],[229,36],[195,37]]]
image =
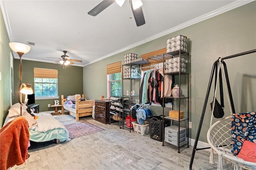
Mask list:
[[35,97],[57,97],[58,79],[34,78]]

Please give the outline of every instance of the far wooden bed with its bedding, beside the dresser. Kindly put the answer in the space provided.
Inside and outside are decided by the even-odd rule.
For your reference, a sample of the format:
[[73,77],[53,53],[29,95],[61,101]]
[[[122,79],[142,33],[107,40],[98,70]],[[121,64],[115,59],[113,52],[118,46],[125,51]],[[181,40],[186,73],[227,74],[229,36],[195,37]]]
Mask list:
[[79,121],[79,117],[92,115],[94,102],[94,100],[84,99],[84,95],[72,95],[66,98],[61,95],[62,113],[66,109],[70,115],[76,118],[76,121]]

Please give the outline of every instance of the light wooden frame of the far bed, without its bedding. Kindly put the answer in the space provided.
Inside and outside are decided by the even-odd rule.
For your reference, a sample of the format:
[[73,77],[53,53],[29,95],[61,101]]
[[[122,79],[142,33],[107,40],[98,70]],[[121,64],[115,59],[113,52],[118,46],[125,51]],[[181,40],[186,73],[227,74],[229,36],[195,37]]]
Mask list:
[[[82,99],[84,99],[84,95],[82,95]],[[92,106],[95,100],[79,101],[76,97],[76,109],[63,105],[65,101],[67,99],[64,99],[64,95],[61,95],[62,113],[64,113],[64,109],[68,110],[69,114],[76,118],[76,121],[79,121],[79,117],[92,115]]]

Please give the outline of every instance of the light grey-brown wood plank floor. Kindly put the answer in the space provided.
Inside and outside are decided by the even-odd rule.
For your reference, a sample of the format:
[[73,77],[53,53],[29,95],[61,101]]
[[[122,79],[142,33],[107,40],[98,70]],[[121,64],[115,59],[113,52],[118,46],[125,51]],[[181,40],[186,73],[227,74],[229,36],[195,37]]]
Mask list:
[[[55,144],[31,142],[30,158],[11,170],[188,170],[193,146],[175,146],[120,129],[118,123],[104,125],[91,117],[82,117],[106,130]],[[196,151],[193,169],[216,170],[209,163],[210,152]],[[216,157],[214,157],[216,158]],[[233,169],[231,164],[223,169]]]

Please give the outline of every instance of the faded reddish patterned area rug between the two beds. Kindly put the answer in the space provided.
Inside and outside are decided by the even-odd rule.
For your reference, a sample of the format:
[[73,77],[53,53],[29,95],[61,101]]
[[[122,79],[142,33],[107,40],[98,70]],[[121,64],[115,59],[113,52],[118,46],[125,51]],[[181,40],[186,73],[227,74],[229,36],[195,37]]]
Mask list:
[[89,122],[76,122],[64,126],[68,129],[69,137],[72,139],[105,130]]

